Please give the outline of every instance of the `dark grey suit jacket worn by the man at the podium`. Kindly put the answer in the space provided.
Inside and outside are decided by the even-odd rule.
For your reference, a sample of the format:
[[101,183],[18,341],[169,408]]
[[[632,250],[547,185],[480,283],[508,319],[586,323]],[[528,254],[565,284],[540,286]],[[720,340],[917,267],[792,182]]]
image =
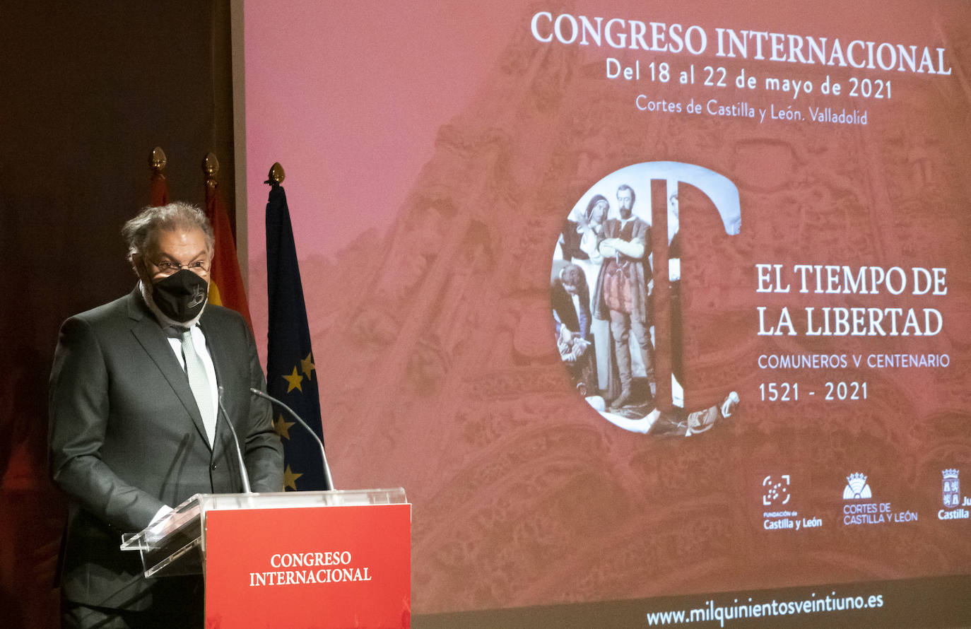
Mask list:
[[[265,388],[250,329],[241,315],[213,305],[199,325],[252,489],[281,491],[283,448],[271,410],[249,390]],[[153,590],[172,584],[144,579],[138,553],[118,545],[163,505],[242,491],[221,414],[214,447],[205,434],[188,379],[137,288],[64,322],[50,374],[49,444],[53,480],[70,498],[65,598],[141,610]]]

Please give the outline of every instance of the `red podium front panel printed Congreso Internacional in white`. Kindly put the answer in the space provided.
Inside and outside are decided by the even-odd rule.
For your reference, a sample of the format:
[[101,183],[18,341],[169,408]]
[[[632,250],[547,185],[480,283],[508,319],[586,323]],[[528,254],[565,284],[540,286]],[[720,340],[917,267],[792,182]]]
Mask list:
[[206,627],[408,628],[411,505],[210,511]]

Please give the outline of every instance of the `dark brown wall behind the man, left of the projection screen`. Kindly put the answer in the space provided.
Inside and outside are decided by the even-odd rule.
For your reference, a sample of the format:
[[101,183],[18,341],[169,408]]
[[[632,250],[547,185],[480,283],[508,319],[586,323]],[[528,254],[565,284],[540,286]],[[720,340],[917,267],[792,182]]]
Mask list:
[[[233,199],[228,0],[7,3],[0,38],[0,626],[53,626],[63,506],[45,455],[65,317],[131,290],[121,224],[204,200],[214,150]],[[11,541],[14,541],[12,544]]]

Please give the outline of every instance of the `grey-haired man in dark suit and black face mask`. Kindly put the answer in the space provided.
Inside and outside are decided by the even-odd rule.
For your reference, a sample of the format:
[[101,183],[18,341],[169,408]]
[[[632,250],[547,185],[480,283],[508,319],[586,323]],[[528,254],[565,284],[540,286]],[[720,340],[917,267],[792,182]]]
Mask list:
[[[198,577],[145,579],[121,535],[196,493],[283,488],[283,453],[244,318],[206,305],[213,231],[198,208],[147,208],[122,230],[138,286],[61,327],[50,466],[70,499],[61,599],[69,627],[201,627]],[[225,415],[219,411],[219,403]]]

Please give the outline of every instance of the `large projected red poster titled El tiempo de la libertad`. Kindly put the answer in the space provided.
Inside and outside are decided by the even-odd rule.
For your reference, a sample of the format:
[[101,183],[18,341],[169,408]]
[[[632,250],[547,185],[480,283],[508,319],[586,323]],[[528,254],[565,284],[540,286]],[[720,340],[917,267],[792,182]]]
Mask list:
[[464,6],[246,6],[257,338],[281,161],[416,626],[971,622],[971,8]]

